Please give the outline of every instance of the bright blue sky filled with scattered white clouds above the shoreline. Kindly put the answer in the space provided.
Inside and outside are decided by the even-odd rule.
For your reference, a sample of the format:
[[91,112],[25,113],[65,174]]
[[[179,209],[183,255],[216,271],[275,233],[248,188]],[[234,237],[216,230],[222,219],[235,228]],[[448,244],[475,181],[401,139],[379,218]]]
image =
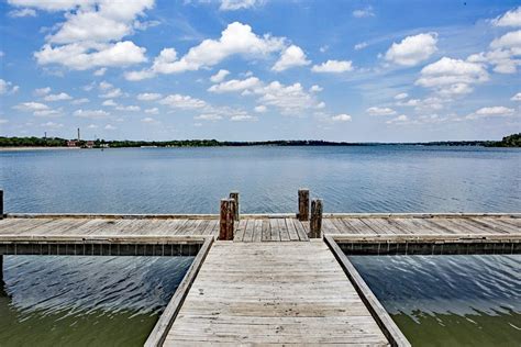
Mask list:
[[499,139],[520,71],[520,1],[0,2],[0,136]]

